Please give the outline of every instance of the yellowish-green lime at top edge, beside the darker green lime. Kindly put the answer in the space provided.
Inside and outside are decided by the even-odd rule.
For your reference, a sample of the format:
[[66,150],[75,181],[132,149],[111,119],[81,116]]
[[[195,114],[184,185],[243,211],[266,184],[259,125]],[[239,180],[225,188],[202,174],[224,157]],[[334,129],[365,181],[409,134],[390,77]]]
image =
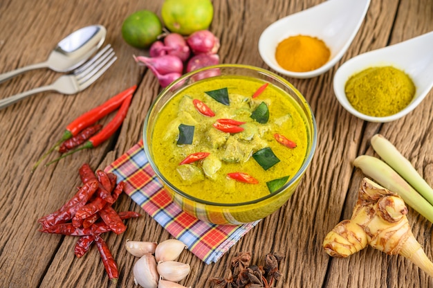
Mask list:
[[214,6],[210,0],[166,0],[161,16],[168,30],[190,35],[208,29],[214,17]]

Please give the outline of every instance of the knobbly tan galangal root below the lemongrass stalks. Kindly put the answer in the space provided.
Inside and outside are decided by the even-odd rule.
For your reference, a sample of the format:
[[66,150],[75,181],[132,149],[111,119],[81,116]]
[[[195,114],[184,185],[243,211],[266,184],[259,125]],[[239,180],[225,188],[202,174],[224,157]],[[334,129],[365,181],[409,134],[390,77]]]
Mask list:
[[351,219],[326,235],[324,251],[333,257],[348,257],[370,245],[389,255],[403,255],[433,277],[433,263],[416,241],[406,214],[403,199],[364,178]]

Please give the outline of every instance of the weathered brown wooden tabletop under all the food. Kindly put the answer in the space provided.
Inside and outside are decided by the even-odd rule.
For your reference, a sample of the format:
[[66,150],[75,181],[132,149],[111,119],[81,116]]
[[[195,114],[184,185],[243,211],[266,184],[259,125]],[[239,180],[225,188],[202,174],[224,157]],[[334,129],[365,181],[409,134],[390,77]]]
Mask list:
[[[154,75],[133,61],[133,54],[144,52],[128,46],[120,28],[136,10],[148,9],[160,15],[162,2],[0,1],[0,73],[46,60],[59,39],[91,24],[107,28],[106,42],[118,56],[100,80],[75,96],[40,93],[0,111],[0,287],[110,286],[95,247],[84,258],[75,258],[76,239],[40,233],[37,219],[73,195],[75,186],[80,185],[77,169],[82,163],[104,168],[139,141],[147,109],[160,88]],[[221,39],[221,62],[268,69],[257,50],[264,28],[320,2],[214,0],[210,30]],[[374,0],[349,50],[333,69],[308,80],[287,78],[304,94],[317,120],[317,150],[306,177],[286,205],[263,219],[219,262],[207,265],[189,251],[183,253],[180,261],[192,267],[183,285],[209,287],[208,278],[226,276],[230,259],[239,251],[252,251],[255,263],[266,253],[279,251],[285,258],[280,267],[283,279],[277,287],[433,287],[432,278],[401,256],[367,248],[350,258],[337,259],[322,249],[326,233],[351,215],[363,177],[352,161],[360,154],[374,153],[369,145],[374,134],[389,138],[433,184],[432,91],[412,113],[380,124],[351,116],[336,100],[332,87],[336,69],[351,57],[431,30],[433,1]],[[25,73],[0,84],[0,98],[48,84],[57,77],[58,73],[44,69]],[[133,84],[138,84],[138,90],[127,118],[110,141],[30,172],[71,120]],[[103,123],[109,120],[105,118]],[[128,228],[122,235],[104,235],[120,269],[117,287],[134,287],[136,258],[125,250],[125,241],[160,242],[170,235],[127,195],[122,195],[116,208],[142,213],[139,219],[126,222]],[[411,208],[408,218],[416,239],[432,259],[432,224]]]

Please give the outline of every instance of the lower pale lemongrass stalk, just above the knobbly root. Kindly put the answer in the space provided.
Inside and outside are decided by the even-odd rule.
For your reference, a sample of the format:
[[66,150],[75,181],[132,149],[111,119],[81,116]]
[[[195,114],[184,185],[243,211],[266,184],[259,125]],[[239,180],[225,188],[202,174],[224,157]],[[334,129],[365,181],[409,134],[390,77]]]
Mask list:
[[387,163],[373,156],[358,156],[353,165],[360,168],[364,174],[371,177],[380,186],[396,192],[405,203],[433,223],[433,206],[412,188]]

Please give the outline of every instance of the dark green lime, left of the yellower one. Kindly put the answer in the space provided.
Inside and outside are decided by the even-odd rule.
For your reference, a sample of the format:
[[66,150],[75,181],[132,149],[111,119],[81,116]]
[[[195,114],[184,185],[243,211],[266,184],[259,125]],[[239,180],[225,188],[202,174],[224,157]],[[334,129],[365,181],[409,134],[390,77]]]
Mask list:
[[122,24],[122,37],[136,48],[148,48],[163,33],[163,24],[154,12],[140,10],[132,13]]

